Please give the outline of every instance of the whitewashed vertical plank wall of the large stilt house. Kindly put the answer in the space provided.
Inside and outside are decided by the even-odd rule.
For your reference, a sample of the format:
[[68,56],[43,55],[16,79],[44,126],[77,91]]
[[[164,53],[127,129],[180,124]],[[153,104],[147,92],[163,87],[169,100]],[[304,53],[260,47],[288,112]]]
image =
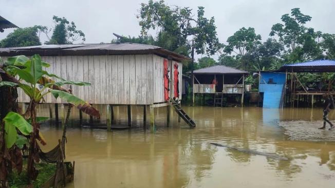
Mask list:
[[[91,86],[72,86],[72,93],[90,104],[146,104],[164,102],[164,58],[144,55],[46,56],[44,68],[66,80],[84,81]],[[178,63],[179,64],[179,63]],[[180,72],[182,66],[179,66]],[[181,88],[181,73],[180,88]],[[69,86],[65,86],[68,88]],[[29,102],[18,90],[18,101]],[[51,94],[46,103],[66,103]]]

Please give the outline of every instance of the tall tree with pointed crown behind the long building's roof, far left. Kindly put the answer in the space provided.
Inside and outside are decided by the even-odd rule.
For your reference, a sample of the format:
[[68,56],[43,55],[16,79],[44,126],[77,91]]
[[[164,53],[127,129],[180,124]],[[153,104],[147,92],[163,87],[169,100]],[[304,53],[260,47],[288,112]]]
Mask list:
[[75,41],[85,41],[84,32],[77,30],[74,22],[70,23],[65,17],[58,16],[53,16],[52,20],[54,21],[55,26],[51,39],[49,38],[49,41],[45,44],[72,44]]

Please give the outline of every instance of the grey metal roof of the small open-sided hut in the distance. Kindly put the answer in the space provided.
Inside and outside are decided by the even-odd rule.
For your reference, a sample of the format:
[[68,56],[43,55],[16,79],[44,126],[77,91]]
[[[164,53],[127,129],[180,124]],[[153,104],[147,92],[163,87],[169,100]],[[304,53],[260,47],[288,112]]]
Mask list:
[[248,74],[249,72],[244,70],[238,70],[236,68],[227,67],[224,65],[214,65],[211,67],[200,68],[198,70],[194,70],[195,74]]

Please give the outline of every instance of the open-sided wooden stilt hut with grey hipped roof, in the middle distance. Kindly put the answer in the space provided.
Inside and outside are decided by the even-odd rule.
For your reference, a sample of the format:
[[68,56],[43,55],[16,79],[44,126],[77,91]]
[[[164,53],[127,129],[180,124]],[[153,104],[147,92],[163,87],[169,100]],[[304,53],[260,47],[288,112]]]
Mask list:
[[222,106],[224,95],[240,96],[243,105],[245,76],[249,72],[224,65],[215,65],[193,71],[193,103],[195,95],[212,93],[214,106]]

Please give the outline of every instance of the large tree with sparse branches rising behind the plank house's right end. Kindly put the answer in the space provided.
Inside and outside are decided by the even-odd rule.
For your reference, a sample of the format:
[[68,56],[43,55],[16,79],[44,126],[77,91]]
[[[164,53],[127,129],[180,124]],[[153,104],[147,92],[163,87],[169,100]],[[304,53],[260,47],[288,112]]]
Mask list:
[[[150,0],[147,4],[141,4],[139,12],[137,17],[140,19],[142,35],[146,35],[150,29],[157,29],[158,39],[171,43],[170,50],[187,53],[192,60],[195,53],[213,55],[221,47],[214,17],[204,17],[203,7],[198,7],[195,17],[189,7],[169,7],[163,0]],[[191,65],[193,71],[193,61]]]

